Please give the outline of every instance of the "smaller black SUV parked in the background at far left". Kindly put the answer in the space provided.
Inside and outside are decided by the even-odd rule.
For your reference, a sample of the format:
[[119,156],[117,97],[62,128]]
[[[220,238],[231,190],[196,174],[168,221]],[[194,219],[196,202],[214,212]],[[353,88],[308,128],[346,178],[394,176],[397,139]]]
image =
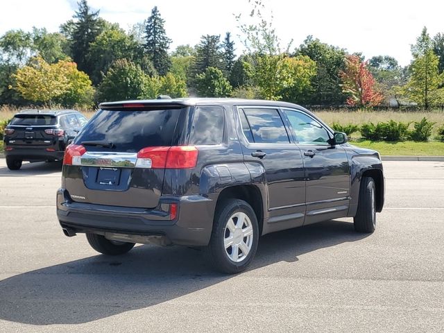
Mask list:
[[62,160],[69,142],[87,119],[75,110],[24,110],[5,128],[4,149],[10,170],[22,161]]

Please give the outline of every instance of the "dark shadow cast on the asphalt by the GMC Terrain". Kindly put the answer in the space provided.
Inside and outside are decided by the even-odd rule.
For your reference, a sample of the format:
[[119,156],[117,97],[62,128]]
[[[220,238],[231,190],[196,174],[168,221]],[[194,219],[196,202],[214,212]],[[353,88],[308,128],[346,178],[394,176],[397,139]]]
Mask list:
[[[346,221],[276,232],[259,241],[249,271],[368,234]],[[0,282],[0,319],[32,325],[78,324],[185,296],[235,275],[215,273],[205,251],[138,246],[121,257],[96,255]]]

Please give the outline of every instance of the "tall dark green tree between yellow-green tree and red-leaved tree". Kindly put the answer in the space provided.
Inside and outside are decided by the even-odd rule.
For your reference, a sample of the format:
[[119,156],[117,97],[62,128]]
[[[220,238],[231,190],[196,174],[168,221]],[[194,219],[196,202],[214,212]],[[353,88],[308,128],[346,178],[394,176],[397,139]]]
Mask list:
[[296,49],[296,56],[308,56],[316,62],[313,91],[305,101],[310,104],[341,104],[345,96],[341,89],[339,72],[345,69],[345,50],[307,36]]

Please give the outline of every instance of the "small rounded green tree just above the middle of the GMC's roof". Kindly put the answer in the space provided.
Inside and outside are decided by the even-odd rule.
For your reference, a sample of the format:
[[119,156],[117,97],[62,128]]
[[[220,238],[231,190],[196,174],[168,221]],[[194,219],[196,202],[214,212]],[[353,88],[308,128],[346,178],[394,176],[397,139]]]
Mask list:
[[232,87],[220,69],[207,67],[205,73],[196,75],[196,87],[200,96],[227,97]]

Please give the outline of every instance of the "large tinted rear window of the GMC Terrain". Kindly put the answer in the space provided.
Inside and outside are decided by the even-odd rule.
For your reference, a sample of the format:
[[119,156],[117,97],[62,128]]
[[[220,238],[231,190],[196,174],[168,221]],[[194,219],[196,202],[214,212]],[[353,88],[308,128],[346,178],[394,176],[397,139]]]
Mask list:
[[[171,146],[180,110],[100,110],[80,131],[75,143],[111,142],[113,150],[127,153],[136,153],[145,147]],[[110,148],[88,145],[87,150],[108,151]]]

